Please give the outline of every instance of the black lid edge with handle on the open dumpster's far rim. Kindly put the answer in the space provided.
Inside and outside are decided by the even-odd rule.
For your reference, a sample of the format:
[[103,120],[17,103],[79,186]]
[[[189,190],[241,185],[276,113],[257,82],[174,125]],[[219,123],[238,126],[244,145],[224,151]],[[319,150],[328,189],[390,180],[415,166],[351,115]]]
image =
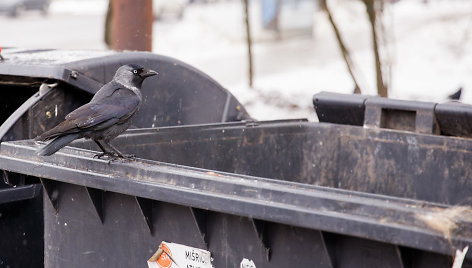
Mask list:
[[313,96],[320,122],[472,137],[472,106],[321,92]]

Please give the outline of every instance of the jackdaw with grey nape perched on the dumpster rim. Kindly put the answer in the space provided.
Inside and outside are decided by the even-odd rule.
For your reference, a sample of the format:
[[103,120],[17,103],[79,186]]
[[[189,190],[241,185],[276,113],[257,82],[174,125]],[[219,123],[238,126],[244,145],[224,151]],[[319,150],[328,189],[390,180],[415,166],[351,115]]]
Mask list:
[[65,121],[44,132],[35,140],[52,140],[37,151],[38,155],[52,155],[62,147],[79,138],[92,139],[103,153],[101,158],[127,158],[110,141],[131,125],[142,101],[141,85],[147,77],[158,73],[142,66],[129,64],[121,66],[113,79],[100,88],[92,100],[69,113]]

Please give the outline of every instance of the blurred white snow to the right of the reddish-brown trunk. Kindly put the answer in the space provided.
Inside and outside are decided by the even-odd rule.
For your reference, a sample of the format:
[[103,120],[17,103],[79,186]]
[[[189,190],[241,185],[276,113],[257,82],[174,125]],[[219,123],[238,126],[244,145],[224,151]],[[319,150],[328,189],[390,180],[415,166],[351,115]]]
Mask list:
[[[359,1],[330,1],[351,50],[363,93],[375,94],[370,28]],[[284,9],[290,7],[283,6]],[[282,10],[282,18],[297,14]],[[354,86],[326,15],[313,10],[312,29],[285,25],[280,40],[259,26],[260,6],[252,2],[255,86],[247,86],[247,59],[239,2],[189,8],[183,22],[157,23],[157,53],[180,58],[209,73],[231,90],[258,119],[314,119],[312,96],[327,90],[351,93]],[[301,20],[306,20],[306,15]],[[463,87],[472,103],[472,2],[403,0],[387,5],[384,23],[392,66],[390,96],[444,101]],[[305,25],[306,26],[306,25]],[[168,27],[166,29],[165,27]],[[192,44],[189,46],[189,44]]]

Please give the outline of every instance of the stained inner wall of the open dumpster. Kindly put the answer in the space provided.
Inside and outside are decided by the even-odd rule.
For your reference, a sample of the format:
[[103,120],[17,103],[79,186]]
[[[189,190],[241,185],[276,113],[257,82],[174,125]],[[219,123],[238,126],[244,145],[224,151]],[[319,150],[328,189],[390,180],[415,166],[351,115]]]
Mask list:
[[297,120],[136,129],[114,144],[143,159],[445,205],[472,192],[465,138]]

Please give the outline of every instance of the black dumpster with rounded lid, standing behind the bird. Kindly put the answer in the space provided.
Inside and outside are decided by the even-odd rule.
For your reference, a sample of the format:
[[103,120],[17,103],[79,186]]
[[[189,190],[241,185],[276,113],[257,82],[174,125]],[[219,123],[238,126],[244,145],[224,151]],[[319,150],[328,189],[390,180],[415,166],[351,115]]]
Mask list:
[[[4,48],[2,55],[2,142],[30,139],[52,128],[88,102],[119,66],[129,63],[161,73],[158,79],[144,83],[143,106],[133,128],[249,119],[244,107],[217,82],[172,58],[140,52],[16,48]],[[40,267],[44,263],[40,180],[25,172],[2,175],[0,267]]]

